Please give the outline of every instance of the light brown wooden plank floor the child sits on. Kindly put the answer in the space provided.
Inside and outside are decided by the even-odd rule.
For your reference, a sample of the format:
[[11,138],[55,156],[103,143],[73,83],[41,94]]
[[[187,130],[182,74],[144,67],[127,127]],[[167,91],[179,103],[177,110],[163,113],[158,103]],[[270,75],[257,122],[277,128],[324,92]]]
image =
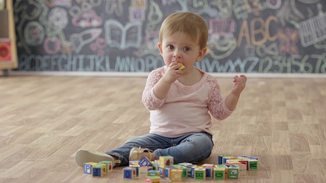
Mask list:
[[[79,148],[110,150],[148,133],[145,82],[0,77],[0,182],[145,182],[124,180],[123,167],[92,178],[74,163]],[[232,78],[219,82],[226,97]],[[215,146],[202,163],[217,164],[219,154],[259,158],[258,171],[219,182],[326,182],[325,79],[249,78],[236,112],[211,130]]]

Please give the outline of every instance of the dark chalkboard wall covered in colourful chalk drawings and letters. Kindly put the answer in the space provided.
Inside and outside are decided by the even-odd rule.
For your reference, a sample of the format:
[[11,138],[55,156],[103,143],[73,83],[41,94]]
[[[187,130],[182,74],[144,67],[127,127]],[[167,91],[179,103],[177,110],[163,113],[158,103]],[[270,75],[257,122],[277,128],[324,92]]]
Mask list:
[[326,72],[324,0],[17,0],[18,70],[150,72],[162,21],[186,11],[209,28],[206,72]]

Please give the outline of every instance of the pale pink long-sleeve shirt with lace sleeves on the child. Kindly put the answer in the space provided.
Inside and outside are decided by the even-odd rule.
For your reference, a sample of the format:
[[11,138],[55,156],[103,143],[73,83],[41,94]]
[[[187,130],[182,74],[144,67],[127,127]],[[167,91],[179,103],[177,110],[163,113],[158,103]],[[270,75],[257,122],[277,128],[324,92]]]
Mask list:
[[198,83],[185,86],[176,80],[163,100],[155,96],[154,85],[165,74],[167,67],[158,68],[149,74],[142,99],[150,110],[150,133],[169,138],[194,132],[212,134],[209,130],[212,126],[210,114],[222,120],[233,112],[225,105],[218,81],[199,68],[196,69],[203,73]]

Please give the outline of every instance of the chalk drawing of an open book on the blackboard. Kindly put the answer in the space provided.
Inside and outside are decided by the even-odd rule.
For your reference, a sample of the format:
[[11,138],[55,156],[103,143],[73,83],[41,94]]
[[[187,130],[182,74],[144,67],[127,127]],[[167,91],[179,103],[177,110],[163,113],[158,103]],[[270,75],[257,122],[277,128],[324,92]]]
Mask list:
[[120,50],[134,47],[139,48],[142,43],[142,22],[127,22],[123,26],[118,20],[110,19],[105,22],[105,38],[110,47]]

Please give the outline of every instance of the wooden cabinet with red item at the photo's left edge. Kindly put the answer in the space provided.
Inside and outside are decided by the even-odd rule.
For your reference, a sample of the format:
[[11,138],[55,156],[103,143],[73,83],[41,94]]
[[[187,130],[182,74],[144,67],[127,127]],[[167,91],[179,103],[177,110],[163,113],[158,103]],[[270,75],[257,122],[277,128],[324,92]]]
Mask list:
[[6,0],[5,10],[0,10],[0,71],[8,75],[9,69],[18,67],[13,1]]

